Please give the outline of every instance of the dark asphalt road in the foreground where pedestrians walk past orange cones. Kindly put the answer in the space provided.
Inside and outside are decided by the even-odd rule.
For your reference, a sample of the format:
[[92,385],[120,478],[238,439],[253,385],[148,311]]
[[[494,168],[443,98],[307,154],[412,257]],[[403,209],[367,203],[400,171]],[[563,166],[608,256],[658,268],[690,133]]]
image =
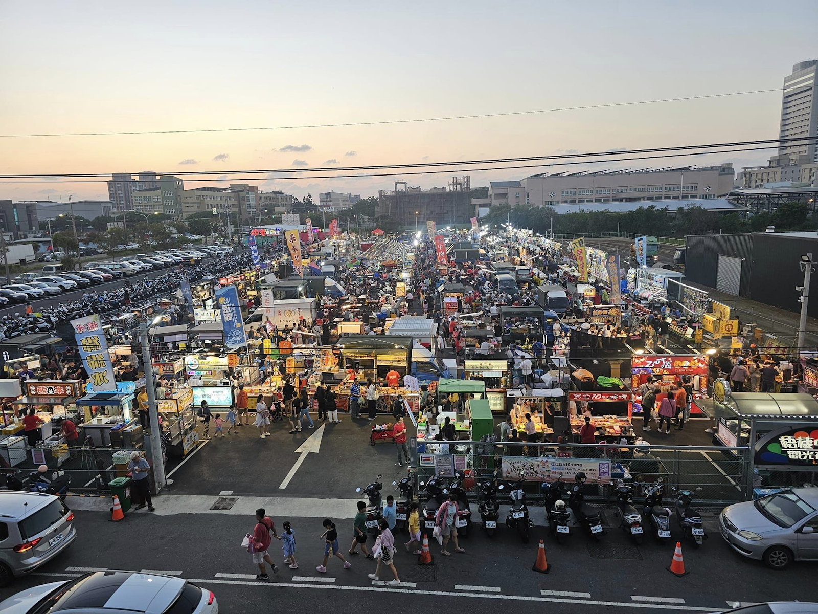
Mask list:
[[[74,503],[69,499],[69,504]],[[157,509],[162,498],[155,501]],[[77,540],[65,553],[34,574],[2,590],[14,590],[46,582],[70,580],[85,571],[125,569],[164,571],[210,589],[220,612],[326,612],[363,610],[418,612],[440,607],[470,608],[493,612],[513,607],[520,612],[717,612],[734,603],[772,600],[814,600],[815,563],[801,563],[786,571],[770,571],[732,552],[718,533],[699,550],[683,548],[683,577],[666,567],[673,544],[645,540],[636,546],[620,530],[609,530],[600,543],[586,535],[571,535],[567,544],[556,544],[544,530],[535,528],[529,544],[516,533],[498,530],[488,538],[474,531],[461,540],[466,552],[451,557],[430,547],[433,565],[421,567],[417,557],[403,549],[405,534],[396,535],[395,566],[404,583],[399,587],[374,585],[367,574],[375,562],[361,555],[350,557],[345,570],[331,558],[326,574],[315,567],[321,562],[321,518],[276,514],[281,530],[290,520],[296,535],[299,569],[281,566],[281,543],[273,540],[270,553],[281,570],[269,582],[254,579],[257,572],[249,554],[240,547],[252,530],[252,515],[209,512],[160,516],[128,512],[124,521],[108,521],[107,512],[76,512]],[[339,520],[339,543],[346,552],[352,522]],[[532,571],[537,543],[545,540],[547,575]],[[371,545],[371,542],[370,542]],[[391,580],[388,572],[380,580]],[[395,593],[389,597],[388,593]],[[273,605],[273,603],[275,605]]]

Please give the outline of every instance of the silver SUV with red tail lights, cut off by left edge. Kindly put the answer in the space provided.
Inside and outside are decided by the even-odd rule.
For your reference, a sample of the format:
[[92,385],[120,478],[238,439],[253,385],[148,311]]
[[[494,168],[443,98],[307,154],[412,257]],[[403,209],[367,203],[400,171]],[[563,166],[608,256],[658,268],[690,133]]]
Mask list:
[[56,495],[0,490],[0,585],[56,557],[76,536],[74,513]]

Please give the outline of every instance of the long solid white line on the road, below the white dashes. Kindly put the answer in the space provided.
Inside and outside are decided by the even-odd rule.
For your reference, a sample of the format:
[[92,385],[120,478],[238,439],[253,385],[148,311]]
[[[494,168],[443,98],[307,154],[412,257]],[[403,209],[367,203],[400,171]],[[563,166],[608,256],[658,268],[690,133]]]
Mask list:
[[[282,589],[334,589],[334,590],[351,590],[370,593],[406,593],[416,595],[418,591],[405,589],[410,583],[401,583],[398,586],[345,586],[345,585],[321,585],[321,584],[299,584],[297,582],[244,582],[241,580],[213,580],[211,578],[197,579],[188,578],[189,582],[201,582],[203,584],[223,584],[223,585],[242,585],[242,586],[259,586],[263,588],[282,588]],[[484,599],[502,599],[504,601],[533,601],[537,603],[582,603],[591,606],[611,606],[611,607],[638,607],[641,609],[654,610],[679,610],[681,612],[720,612],[724,608],[719,607],[699,607],[687,606],[675,603],[632,603],[625,601],[594,601],[591,599],[569,599],[569,598],[547,598],[547,597],[528,597],[527,595],[505,595],[497,593],[456,593],[448,590],[424,590],[425,595],[436,595],[440,597],[471,597]]]

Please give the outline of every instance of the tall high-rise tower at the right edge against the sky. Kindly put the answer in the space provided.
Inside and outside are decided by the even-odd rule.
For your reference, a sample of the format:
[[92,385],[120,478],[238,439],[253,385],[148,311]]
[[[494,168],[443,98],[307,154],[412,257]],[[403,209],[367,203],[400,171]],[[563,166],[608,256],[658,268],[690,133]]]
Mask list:
[[[784,77],[780,138],[793,137],[818,137],[818,60],[798,62],[793,74]],[[784,143],[778,155],[818,162],[818,143]]]

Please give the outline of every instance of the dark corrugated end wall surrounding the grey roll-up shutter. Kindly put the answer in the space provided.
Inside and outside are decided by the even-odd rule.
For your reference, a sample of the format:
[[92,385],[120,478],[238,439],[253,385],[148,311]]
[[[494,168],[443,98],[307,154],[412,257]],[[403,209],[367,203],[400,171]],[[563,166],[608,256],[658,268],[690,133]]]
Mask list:
[[741,296],[749,296],[750,271],[753,269],[753,235],[720,234],[687,237],[685,278],[716,287],[718,255],[744,259],[741,267]]

